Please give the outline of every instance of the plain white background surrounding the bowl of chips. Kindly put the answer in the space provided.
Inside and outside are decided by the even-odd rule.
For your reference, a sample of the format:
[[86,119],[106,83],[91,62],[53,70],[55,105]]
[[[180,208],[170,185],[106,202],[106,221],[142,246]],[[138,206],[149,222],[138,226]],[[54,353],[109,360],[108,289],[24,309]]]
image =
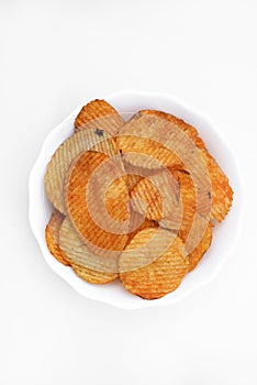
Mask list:
[[[0,0],[1,385],[257,383],[256,20],[255,0]],[[167,308],[82,298],[46,265],[27,223],[44,138],[79,103],[124,88],[208,113],[243,174],[234,253]]]

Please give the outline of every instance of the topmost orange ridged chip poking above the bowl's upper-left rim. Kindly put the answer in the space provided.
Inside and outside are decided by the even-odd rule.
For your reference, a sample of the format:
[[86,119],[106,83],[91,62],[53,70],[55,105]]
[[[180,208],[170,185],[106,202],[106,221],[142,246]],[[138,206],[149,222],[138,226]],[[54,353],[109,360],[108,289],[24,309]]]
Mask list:
[[82,107],[75,120],[75,132],[96,129],[99,136],[102,135],[102,130],[115,135],[123,124],[124,120],[111,105],[96,99]]

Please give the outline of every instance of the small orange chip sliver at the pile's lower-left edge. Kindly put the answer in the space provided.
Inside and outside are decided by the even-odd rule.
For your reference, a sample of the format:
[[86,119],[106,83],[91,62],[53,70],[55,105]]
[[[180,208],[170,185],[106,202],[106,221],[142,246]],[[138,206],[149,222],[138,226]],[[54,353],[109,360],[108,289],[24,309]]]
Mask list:
[[64,216],[57,211],[54,210],[51,220],[48,222],[48,224],[45,228],[45,239],[46,239],[46,244],[47,248],[51,252],[52,255],[54,255],[54,257],[59,261],[60,263],[63,263],[63,265],[68,266],[69,262],[65,255],[65,253],[63,252],[63,250],[60,250],[58,243],[59,243],[59,229],[60,226],[64,221]]

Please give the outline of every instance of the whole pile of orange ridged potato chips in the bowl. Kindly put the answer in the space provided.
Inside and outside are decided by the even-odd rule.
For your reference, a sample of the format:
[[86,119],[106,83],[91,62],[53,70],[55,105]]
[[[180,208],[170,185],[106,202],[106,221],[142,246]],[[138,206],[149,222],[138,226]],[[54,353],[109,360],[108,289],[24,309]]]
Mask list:
[[46,243],[86,282],[120,278],[130,293],[156,299],[209,250],[233,190],[192,125],[156,110],[123,118],[91,101],[53,154]]

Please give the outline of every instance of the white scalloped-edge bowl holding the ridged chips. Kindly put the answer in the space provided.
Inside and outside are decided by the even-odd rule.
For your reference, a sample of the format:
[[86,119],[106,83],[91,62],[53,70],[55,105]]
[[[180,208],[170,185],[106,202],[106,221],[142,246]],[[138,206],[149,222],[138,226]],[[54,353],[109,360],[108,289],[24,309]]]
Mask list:
[[[120,282],[108,285],[88,284],[80,279],[70,267],[62,265],[52,256],[45,242],[45,227],[51,216],[52,206],[45,196],[44,174],[46,165],[55,150],[72,133],[74,120],[81,109],[81,106],[49,132],[31,172],[29,183],[29,216],[32,231],[51,268],[86,298],[125,309],[175,304],[195,289],[210,283],[217,274],[222,264],[227,260],[236,243],[243,212],[242,184],[236,165],[236,157],[227,144],[227,140],[230,139],[225,142],[210,119],[174,97],[125,90],[107,96],[104,99],[121,114],[125,113],[126,118],[127,113],[134,113],[141,109],[157,109],[170,112],[183,119],[186,122],[191,123],[199,130],[208,148],[230,177],[231,185],[234,189],[234,201],[231,212],[221,224],[214,228],[211,249],[197,268],[183,278],[177,290],[155,300],[144,300],[137,296],[131,295],[122,287]],[[85,102],[89,100],[85,100]]]

